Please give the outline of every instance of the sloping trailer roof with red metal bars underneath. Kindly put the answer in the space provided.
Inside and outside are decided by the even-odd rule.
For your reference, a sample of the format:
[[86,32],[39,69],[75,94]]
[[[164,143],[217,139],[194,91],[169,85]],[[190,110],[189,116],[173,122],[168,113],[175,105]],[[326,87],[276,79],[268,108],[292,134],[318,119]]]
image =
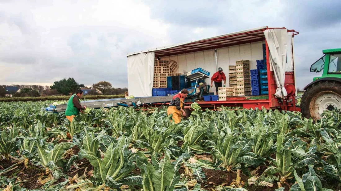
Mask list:
[[[265,40],[263,31],[266,29],[286,29],[286,28],[285,27],[268,28],[267,26],[260,27],[256,29],[235,32],[231,34],[193,41],[189,43],[183,43],[183,44],[178,44],[178,45],[169,46],[169,47],[161,47],[161,48],[148,50],[144,52],[154,51],[155,57],[164,57],[164,56],[172,56],[172,55],[178,55],[178,54],[217,49],[217,48],[252,43],[252,42],[259,42],[259,41]],[[293,36],[298,34],[298,32],[296,32],[295,30],[287,30],[287,31],[293,32]],[[133,53],[133,54],[138,54],[142,52],[143,51]],[[128,56],[133,55],[133,54],[129,54]]]

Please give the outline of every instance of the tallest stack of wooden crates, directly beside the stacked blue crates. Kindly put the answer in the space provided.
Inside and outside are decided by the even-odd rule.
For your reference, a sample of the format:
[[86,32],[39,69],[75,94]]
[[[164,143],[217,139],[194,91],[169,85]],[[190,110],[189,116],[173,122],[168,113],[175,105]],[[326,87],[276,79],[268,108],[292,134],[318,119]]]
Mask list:
[[237,96],[251,95],[250,60],[236,62]]

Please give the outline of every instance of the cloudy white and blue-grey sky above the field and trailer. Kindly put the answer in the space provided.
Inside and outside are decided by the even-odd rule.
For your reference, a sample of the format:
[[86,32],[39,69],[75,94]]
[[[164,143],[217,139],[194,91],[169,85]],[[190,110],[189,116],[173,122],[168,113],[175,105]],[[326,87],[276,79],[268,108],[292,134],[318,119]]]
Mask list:
[[127,53],[261,26],[294,38],[298,87],[310,65],[341,45],[340,0],[0,0],[0,84],[74,77],[127,87]]

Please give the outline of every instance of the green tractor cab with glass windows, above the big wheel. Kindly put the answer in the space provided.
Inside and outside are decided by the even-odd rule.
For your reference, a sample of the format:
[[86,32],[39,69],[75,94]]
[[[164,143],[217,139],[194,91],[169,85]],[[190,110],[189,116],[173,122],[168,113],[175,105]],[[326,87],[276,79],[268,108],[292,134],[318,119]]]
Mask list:
[[310,66],[310,72],[321,72],[321,77],[314,77],[313,81],[321,78],[341,78],[341,49],[323,50],[325,54]]

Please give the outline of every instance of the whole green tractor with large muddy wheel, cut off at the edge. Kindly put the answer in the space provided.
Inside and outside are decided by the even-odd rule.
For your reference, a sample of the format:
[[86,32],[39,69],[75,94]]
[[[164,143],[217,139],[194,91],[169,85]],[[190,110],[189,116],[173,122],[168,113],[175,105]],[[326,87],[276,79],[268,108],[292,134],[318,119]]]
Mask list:
[[310,67],[310,72],[321,72],[308,84],[301,99],[304,117],[320,119],[325,110],[341,109],[341,49],[323,50],[324,56]]

